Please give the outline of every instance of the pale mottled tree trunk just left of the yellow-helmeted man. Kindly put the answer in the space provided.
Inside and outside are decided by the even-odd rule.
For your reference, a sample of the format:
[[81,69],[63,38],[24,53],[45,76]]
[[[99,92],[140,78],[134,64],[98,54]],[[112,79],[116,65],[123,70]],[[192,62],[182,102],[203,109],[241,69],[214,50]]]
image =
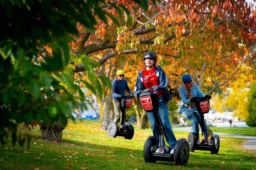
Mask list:
[[[111,122],[111,116],[113,114],[113,107],[111,110],[111,103],[112,103],[112,95],[111,91],[108,91],[106,97],[101,99],[100,103],[100,130],[106,131],[108,128],[109,123]],[[110,111],[111,110],[111,111]]]

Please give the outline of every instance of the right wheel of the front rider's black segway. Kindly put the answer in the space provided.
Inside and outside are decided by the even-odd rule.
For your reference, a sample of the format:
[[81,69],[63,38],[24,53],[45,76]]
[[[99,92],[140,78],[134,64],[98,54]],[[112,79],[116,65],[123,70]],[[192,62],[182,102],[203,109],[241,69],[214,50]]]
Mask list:
[[174,148],[174,163],[186,166],[189,158],[189,144],[184,138],[180,138]]

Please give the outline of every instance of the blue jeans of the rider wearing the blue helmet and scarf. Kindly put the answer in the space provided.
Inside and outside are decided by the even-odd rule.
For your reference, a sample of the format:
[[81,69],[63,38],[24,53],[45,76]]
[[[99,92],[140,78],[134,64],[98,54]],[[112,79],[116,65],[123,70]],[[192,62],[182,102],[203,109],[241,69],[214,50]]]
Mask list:
[[[196,138],[199,139],[199,126],[198,123],[201,124],[201,115],[197,112],[192,112],[193,114],[186,116],[188,120],[192,122],[193,132],[196,133]],[[201,127],[202,128],[202,127]],[[204,122],[204,129],[206,133],[206,138],[208,140],[207,127]]]

